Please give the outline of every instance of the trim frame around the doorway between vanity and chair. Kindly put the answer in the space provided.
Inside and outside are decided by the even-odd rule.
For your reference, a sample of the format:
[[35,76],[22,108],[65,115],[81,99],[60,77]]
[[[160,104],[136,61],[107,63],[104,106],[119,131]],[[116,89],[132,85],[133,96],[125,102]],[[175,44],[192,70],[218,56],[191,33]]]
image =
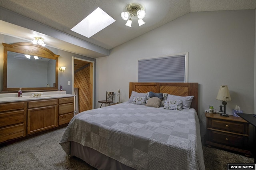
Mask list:
[[74,67],[75,67],[75,59],[77,60],[82,60],[82,61],[87,61],[89,63],[92,63],[92,109],[94,109],[94,105],[95,105],[95,101],[94,101],[94,67],[95,67],[95,62],[94,61],[90,61],[87,59],[81,59],[78,57],[74,57],[72,56],[72,94],[74,95]]

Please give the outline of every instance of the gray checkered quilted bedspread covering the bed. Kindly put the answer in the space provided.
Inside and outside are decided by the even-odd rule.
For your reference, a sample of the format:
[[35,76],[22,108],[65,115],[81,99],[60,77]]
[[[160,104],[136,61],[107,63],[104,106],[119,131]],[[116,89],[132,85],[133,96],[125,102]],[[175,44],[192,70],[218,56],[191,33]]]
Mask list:
[[76,115],[60,145],[78,142],[138,170],[204,170],[194,109],[165,110],[121,103]]

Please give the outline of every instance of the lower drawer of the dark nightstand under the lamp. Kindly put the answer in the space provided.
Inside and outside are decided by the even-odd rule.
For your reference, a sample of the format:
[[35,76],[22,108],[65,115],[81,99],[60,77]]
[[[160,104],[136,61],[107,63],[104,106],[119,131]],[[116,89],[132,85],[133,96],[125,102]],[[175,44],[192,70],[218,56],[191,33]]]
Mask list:
[[218,131],[212,131],[211,140],[212,142],[242,148],[243,144],[246,143],[245,140],[247,140],[247,137],[218,132]]

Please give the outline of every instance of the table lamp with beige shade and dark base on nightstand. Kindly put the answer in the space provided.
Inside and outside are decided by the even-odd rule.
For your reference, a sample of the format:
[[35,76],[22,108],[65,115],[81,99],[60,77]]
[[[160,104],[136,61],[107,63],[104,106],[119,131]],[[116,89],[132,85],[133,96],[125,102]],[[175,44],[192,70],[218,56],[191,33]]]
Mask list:
[[220,89],[219,89],[219,92],[218,92],[218,95],[217,95],[216,99],[221,100],[222,105],[224,106],[224,111],[220,115],[228,117],[228,114],[226,114],[226,105],[227,105],[226,101],[231,101],[231,97],[230,97],[227,85],[221,85],[220,86]]

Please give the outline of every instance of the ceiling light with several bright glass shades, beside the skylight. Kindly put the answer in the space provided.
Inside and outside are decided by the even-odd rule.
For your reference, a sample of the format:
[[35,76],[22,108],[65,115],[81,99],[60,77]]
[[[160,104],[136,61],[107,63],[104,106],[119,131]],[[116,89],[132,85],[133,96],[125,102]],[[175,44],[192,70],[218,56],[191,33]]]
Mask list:
[[142,20],[146,16],[146,12],[142,5],[137,3],[128,4],[125,8],[125,12],[121,13],[123,20],[127,21],[126,26],[132,27],[132,17],[138,17],[138,24],[142,26],[145,22]]

